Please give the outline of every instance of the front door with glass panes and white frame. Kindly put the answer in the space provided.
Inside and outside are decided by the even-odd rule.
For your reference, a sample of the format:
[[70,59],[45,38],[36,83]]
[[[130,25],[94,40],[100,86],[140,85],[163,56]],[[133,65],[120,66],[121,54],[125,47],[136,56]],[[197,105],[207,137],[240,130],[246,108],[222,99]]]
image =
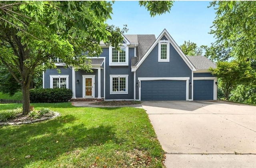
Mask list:
[[83,97],[94,97],[95,75],[83,75]]

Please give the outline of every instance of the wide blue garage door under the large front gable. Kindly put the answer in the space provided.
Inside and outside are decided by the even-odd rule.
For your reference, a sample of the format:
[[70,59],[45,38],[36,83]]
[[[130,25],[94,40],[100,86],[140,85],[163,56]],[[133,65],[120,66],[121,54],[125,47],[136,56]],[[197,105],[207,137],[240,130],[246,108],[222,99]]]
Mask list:
[[186,81],[141,81],[141,100],[186,100]]

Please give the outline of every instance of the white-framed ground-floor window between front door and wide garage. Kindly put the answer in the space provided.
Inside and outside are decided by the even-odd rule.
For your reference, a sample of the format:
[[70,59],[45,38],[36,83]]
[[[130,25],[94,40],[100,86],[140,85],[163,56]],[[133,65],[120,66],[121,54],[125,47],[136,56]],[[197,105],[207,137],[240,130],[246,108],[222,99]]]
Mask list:
[[128,75],[110,75],[110,94],[128,94]]

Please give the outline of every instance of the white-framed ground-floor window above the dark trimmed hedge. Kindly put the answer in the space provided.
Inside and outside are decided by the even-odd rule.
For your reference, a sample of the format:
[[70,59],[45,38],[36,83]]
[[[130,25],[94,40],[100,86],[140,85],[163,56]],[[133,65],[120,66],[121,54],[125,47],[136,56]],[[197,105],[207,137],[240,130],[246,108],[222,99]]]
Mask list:
[[69,75],[50,75],[50,88],[66,88],[68,89]]

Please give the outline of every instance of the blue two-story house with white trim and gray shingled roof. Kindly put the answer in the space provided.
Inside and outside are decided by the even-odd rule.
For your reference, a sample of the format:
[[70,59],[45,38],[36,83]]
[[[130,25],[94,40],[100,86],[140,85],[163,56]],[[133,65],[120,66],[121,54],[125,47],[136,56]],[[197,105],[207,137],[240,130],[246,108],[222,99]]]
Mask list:
[[100,44],[102,53],[91,58],[92,73],[57,64],[61,73],[47,69],[43,87],[72,89],[73,101],[217,99],[217,78],[208,71],[216,65],[204,56],[184,55],[166,30],[158,38],[123,37],[120,50]]

